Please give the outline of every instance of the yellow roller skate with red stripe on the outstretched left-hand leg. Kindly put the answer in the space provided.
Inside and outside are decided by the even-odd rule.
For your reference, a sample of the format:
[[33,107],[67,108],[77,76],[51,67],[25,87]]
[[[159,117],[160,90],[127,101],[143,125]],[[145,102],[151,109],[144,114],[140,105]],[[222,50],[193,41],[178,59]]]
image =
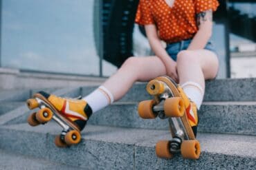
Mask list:
[[84,100],[60,98],[46,92],[37,92],[27,100],[29,109],[39,111],[28,116],[28,124],[35,127],[55,120],[62,127],[62,133],[55,137],[57,147],[68,147],[81,141],[80,131],[91,116],[91,107]]

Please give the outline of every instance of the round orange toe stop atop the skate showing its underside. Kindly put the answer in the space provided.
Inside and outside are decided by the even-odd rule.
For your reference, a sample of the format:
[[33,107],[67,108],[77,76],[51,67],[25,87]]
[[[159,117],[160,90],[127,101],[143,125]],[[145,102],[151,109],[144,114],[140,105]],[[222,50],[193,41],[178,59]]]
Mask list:
[[147,83],[147,92],[151,95],[159,95],[165,92],[165,83],[152,80]]

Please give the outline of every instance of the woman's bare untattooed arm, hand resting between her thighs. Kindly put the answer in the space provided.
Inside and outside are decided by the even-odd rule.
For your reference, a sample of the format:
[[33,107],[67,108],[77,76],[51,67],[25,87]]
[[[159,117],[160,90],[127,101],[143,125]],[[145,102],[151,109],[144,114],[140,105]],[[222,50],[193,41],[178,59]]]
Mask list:
[[178,74],[176,71],[176,62],[172,60],[172,58],[167,54],[165,48],[163,47],[161,40],[158,37],[156,25],[145,25],[145,30],[147,34],[147,39],[149,40],[149,44],[152,47],[152,50],[156,54],[156,56],[163,61],[165,65],[165,70],[168,76],[171,76],[174,81],[178,82]]

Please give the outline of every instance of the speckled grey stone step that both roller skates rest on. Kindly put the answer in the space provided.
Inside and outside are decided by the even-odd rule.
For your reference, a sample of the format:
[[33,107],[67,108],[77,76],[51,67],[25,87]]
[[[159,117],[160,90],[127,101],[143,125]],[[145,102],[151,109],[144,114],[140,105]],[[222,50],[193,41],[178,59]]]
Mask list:
[[[86,169],[255,169],[256,136],[199,134],[201,157],[184,160],[157,158],[158,140],[170,139],[166,130],[129,129],[88,125],[79,145],[55,147],[56,124],[30,127],[27,124],[0,127],[0,148]],[[22,146],[22,147],[21,147]]]

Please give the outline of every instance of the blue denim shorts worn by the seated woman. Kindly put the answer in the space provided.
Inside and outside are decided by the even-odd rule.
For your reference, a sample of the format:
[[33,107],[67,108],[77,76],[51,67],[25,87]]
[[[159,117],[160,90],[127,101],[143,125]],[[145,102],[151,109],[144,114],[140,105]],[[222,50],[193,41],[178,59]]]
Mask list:
[[[177,54],[181,51],[181,50],[187,50],[188,49],[188,45],[190,45],[192,39],[188,39],[188,40],[183,40],[183,41],[179,41],[177,43],[169,43],[167,44],[167,46],[165,47],[166,52],[172,57],[172,59],[174,61],[176,61],[177,59]],[[205,45],[205,50],[210,50],[212,52],[214,52],[215,54],[217,54],[214,45],[212,44],[211,41],[208,41],[208,43]],[[218,54],[217,54],[218,56]]]

